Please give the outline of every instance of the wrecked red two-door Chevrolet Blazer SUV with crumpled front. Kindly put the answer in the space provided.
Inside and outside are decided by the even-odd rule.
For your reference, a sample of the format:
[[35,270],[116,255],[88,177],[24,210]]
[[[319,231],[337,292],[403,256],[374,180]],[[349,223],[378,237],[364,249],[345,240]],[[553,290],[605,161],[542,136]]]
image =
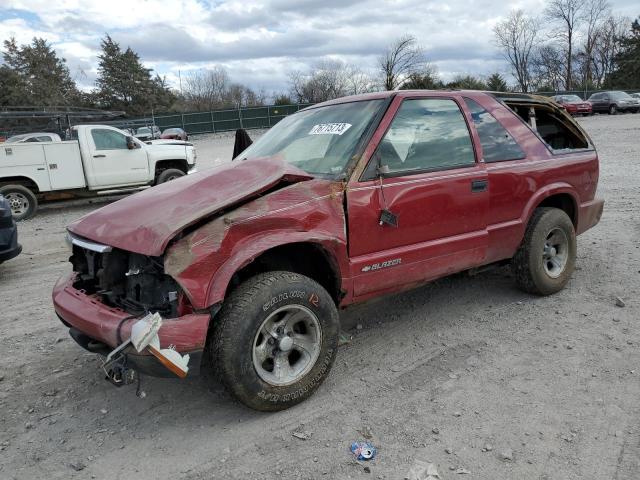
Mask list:
[[527,292],[561,290],[602,214],[597,183],[588,136],[542,97],[341,98],[71,224],[53,302],[85,348],[120,346],[119,378],[172,375],[127,343],[157,312],[156,348],[190,354],[189,375],[206,352],[237,399],[280,410],[329,373],[339,308],[488,264],[510,263]]

